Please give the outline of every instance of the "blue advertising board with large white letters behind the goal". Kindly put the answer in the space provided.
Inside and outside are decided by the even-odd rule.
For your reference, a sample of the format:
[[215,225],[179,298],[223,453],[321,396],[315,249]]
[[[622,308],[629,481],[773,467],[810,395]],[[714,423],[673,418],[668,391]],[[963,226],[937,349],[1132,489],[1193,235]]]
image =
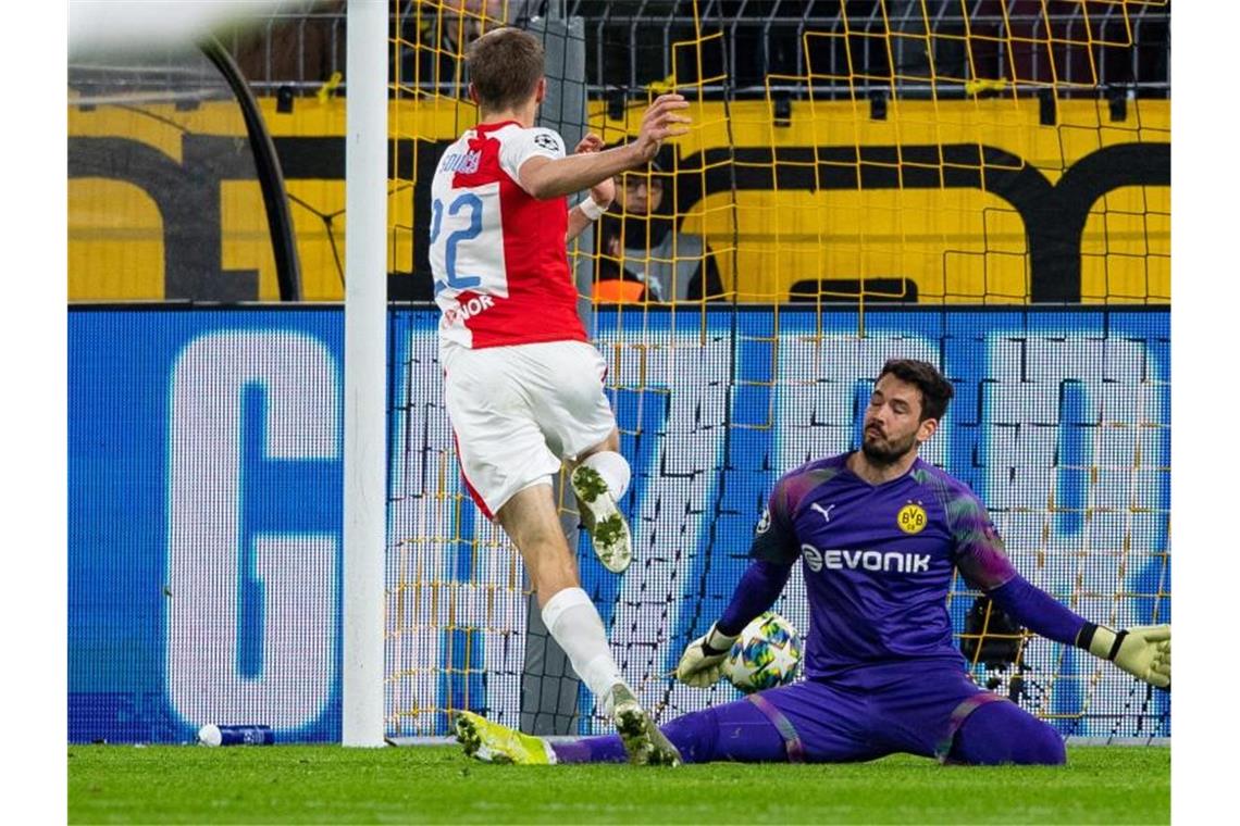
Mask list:
[[[436,485],[461,493],[439,467],[451,436],[438,315],[389,318],[393,545],[425,534],[427,509],[438,508],[438,533],[453,541],[433,547],[438,570],[423,576],[508,576],[469,550],[494,531],[472,506],[423,497],[443,493]],[[662,554],[620,581],[583,554],[583,582],[615,644],[663,640],[650,672],[675,665],[722,609],[779,474],[856,443],[873,376],[893,355],[935,362],[954,381],[924,456],[987,502],[1032,581],[1097,622],[1169,622],[1166,310],[867,311],[864,337],[856,312],[812,307],[637,318],[595,318],[634,467],[625,508],[641,524],[639,552],[642,537],[655,547],[668,536],[702,552]],[[68,336],[69,739],[185,742],[203,723],[339,739],[342,311],[81,308]],[[1094,555],[1083,561],[1083,551]],[[677,583],[693,583],[698,603]],[[797,587],[782,609],[808,628]],[[957,630],[966,592],[950,604]],[[661,612],[646,611],[650,593],[662,594]],[[413,700],[393,679],[389,721],[402,703],[460,707],[471,692],[472,703],[515,708],[520,680],[498,675],[520,661],[494,630],[445,627],[402,638],[408,649],[389,644],[404,658],[398,672],[453,671],[440,666],[461,646],[472,663],[472,676],[414,686]],[[1030,644],[1025,659],[1034,672],[1086,669],[1049,643]],[[1169,733],[1166,695],[1133,698],[1114,669],[1090,696],[1086,685],[1054,680],[1025,698],[1069,734]],[[668,696],[681,710],[702,702],[689,689]],[[443,719],[417,731],[444,733]]]

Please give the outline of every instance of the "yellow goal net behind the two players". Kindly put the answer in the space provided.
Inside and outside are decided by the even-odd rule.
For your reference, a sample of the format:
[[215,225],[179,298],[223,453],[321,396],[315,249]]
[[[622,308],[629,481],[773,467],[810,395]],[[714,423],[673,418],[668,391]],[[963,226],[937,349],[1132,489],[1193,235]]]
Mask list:
[[[572,250],[634,468],[635,561],[610,575],[579,535],[582,580],[660,719],[738,696],[666,675],[727,604],[775,480],[859,443],[892,357],[954,381],[923,456],[1032,582],[1094,622],[1169,622],[1167,4],[394,2],[389,736],[463,708],[543,726],[532,702],[539,731],[608,731],[465,490],[418,301],[434,163],[476,119],[463,50],[505,24],[546,37],[569,146],[583,125],[632,137],[661,90],[692,104],[689,134],[620,182],[649,212]],[[957,580],[949,603],[980,684],[1066,736],[1169,736],[1167,693],[980,596]],[[800,570],[776,609],[808,629]]]

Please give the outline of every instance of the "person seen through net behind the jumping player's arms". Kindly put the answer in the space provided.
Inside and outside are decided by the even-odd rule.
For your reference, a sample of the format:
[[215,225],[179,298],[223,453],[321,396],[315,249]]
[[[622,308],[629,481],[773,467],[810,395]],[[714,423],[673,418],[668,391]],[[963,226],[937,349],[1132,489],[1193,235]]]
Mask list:
[[714,256],[699,235],[677,232],[672,198],[665,197],[672,178],[668,152],[647,171],[616,178],[616,198],[599,222],[600,261],[609,255],[608,239],[619,239],[619,266],[645,282],[652,301],[699,301],[723,296]]

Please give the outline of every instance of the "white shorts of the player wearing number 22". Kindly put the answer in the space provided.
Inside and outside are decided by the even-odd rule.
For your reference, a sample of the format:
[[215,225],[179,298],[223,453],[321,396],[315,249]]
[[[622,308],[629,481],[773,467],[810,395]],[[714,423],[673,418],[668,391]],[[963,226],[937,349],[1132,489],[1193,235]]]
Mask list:
[[456,454],[489,519],[616,426],[603,394],[606,362],[585,342],[444,349]]

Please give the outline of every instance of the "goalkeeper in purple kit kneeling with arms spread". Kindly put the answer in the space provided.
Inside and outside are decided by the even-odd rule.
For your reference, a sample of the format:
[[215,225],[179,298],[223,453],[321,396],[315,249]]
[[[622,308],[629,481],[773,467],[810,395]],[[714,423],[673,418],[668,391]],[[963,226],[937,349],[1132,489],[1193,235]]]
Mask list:
[[[946,596],[959,570],[1023,625],[1171,687],[1171,627],[1116,632],[1076,615],[1008,561],[968,488],[918,458],[951,399],[925,362],[893,359],[864,416],[862,450],[810,462],[775,485],[753,562],[676,676],[717,681],[744,627],[770,608],[800,560],[810,599],[806,677],[678,717],[663,728],[687,763],[842,763],[905,752],[945,763],[1060,764],[1059,734],[972,682],[952,645]],[[613,737],[554,744],[463,716],[458,736],[481,759],[610,762]]]

